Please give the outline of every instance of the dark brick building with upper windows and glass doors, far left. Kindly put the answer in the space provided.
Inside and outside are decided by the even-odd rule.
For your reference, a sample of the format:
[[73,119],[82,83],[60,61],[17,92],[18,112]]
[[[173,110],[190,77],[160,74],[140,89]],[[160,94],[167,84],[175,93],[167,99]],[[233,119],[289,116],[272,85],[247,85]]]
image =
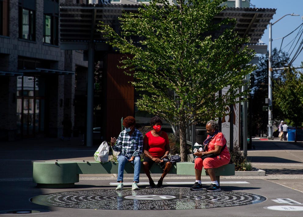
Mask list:
[[0,140],[61,136],[87,61],[60,49],[59,1],[0,0],[0,10]]

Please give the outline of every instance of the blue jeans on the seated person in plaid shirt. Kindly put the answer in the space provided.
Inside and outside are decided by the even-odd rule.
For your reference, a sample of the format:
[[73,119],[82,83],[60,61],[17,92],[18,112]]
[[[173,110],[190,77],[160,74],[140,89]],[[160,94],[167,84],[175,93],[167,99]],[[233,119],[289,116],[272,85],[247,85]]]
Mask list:
[[[117,182],[122,181],[123,182],[123,173],[124,173],[124,167],[125,164],[128,162],[130,158],[126,157],[124,155],[120,155],[118,157],[118,178]],[[133,181],[139,182],[139,176],[140,176],[140,167],[141,167],[141,160],[140,157],[137,156],[135,159],[131,162],[134,165],[134,172],[133,172]]]

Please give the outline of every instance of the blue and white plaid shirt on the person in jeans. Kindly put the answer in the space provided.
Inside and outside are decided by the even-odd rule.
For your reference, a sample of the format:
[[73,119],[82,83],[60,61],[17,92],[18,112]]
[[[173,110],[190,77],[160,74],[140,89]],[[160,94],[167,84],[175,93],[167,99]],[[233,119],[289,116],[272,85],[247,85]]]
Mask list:
[[143,135],[135,128],[132,135],[123,130],[117,138],[116,144],[112,147],[114,151],[120,151],[120,155],[131,158],[141,155],[143,148]]

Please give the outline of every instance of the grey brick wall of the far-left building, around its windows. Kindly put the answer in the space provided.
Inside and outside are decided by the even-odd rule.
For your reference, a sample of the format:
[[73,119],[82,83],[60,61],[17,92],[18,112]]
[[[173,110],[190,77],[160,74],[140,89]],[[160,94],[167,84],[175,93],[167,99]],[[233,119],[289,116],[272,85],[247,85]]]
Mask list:
[[[64,2],[73,1],[60,0],[60,3]],[[80,77],[83,81],[79,84],[85,96],[87,61],[83,61],[83,52],[64,51],[60,49],[60,44],[43,43],[43,6],[43,0],[36,0],[36,40],[28,41],[19,39],[18,35],[18,0],[9,1],[9,36],[0,36],[0,71],[17,72],[18,57],[40,59],[41,62],[47,60],[50,64],[44,68],[50,69],[76,71],[81,66]],[[58,137],[62,134],[64,113],[71,115],[74,124],[75,75],[42,76],[46,76],[47,82],[51,83],[47,86],[49,94],[45,98],[49,105],[45,114],[49,119],[46,129],[50,136]],[[0,85],[0,140],[3,139],[1,135],[5,135],[5,140],[8,140],[8,137],[13,138],[16,134],[16,76],[0,76]]]

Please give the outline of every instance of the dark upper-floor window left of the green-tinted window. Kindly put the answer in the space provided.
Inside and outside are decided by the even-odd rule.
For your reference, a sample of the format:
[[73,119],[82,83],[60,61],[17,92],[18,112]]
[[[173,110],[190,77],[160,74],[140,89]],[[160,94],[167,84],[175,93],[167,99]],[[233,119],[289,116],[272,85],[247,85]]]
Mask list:
[[35,11],[19,7],[19,38],[35,41]]

